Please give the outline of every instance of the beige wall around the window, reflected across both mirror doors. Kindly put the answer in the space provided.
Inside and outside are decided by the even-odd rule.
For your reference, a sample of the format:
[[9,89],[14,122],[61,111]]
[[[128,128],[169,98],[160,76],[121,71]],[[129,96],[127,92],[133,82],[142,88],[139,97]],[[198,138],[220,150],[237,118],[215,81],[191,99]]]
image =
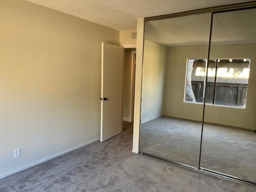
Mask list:
[[[256,130],[256,44],[211,46],[210,58],[251,58],[246,109],[206,106],[205,121]],[[184,103],[187,58],[207,58],[208,46],[169,47],[164,115],[202,120],[200,104]]]

